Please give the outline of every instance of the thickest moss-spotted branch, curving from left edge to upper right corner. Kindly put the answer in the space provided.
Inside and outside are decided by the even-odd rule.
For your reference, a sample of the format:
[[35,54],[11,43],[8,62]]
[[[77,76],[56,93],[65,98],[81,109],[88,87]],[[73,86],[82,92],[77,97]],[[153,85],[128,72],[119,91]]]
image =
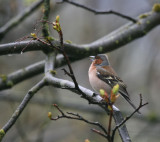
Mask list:
[[[67,55],[79,59],[88,57],[89,55],[113,51],[146,35],[149,31],[160,24],[159,19],[159,13],[150,12],[146,14],[145,18],[139,18],[137,23],[133,24],[129,22],[121,28],[90,44],[77,45],[64,43],[64,50]],[[28,44],[28,42],[29,41],[2,44],[0,45],[0,55],[21,53],[26,45],[28,46],[24,52],[42,50],[42,48],[48,47],[38,41],[32,41],[30,44]],[[56,40],[52,43],[53,45],[59,45],[59,42]]]

